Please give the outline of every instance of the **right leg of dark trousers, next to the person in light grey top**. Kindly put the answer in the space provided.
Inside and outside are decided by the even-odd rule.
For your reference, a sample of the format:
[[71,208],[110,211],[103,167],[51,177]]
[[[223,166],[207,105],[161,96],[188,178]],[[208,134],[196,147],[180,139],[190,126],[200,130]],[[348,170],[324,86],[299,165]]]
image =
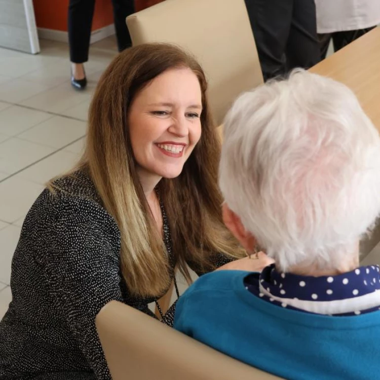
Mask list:
[[314,0],[294,0],[286,45],[287,70],[310,68],[321,60]]

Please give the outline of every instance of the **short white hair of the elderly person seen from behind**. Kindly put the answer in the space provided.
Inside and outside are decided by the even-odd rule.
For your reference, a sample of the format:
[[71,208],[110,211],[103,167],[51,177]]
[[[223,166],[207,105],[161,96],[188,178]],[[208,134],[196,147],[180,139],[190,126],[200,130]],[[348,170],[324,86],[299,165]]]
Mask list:
[[280,270],[337,268],[380,213],[380,138],[348,87],[296,69],[235,101],[219,176]]

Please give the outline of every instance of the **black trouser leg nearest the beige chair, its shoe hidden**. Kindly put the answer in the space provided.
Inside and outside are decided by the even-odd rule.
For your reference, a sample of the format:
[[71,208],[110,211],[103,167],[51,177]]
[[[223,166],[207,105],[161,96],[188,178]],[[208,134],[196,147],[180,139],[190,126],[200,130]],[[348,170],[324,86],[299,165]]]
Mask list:
[[116,36],[118,39],[119,51],[132,46],[131,36],[129,34],[125,19],[135,12],[133,0],[112,0],[113,18],[115,19]]

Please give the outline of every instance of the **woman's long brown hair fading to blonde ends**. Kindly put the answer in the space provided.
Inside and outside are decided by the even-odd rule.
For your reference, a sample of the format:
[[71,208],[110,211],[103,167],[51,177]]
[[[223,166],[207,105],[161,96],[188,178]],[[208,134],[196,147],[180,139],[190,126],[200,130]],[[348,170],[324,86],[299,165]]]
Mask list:
[[159,185],[172,233],[177,268],[189,280],[186,262],[213,269],[211,256],[241,257],[225,228],[217,185],[220,142],[212,123],[205,74],[199,63],[176,46],[144,44],[119,54],[96,88],[90,110],[85,153],[76,168],[87,168],[105,209],[121,233],[121,270],[132,294],[161,296],[169,286],[170,266],[137,176],[129,138],[128,112],[136,94],[171,68],[193,70],[202,91],[202,136],[175,179]]

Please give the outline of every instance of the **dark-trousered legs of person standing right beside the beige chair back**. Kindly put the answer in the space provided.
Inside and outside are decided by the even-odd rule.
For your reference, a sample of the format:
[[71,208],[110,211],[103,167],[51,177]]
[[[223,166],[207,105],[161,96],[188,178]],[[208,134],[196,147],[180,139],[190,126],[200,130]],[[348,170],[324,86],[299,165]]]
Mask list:
[[245,0],[264,81],[320,61],[314,0]]

